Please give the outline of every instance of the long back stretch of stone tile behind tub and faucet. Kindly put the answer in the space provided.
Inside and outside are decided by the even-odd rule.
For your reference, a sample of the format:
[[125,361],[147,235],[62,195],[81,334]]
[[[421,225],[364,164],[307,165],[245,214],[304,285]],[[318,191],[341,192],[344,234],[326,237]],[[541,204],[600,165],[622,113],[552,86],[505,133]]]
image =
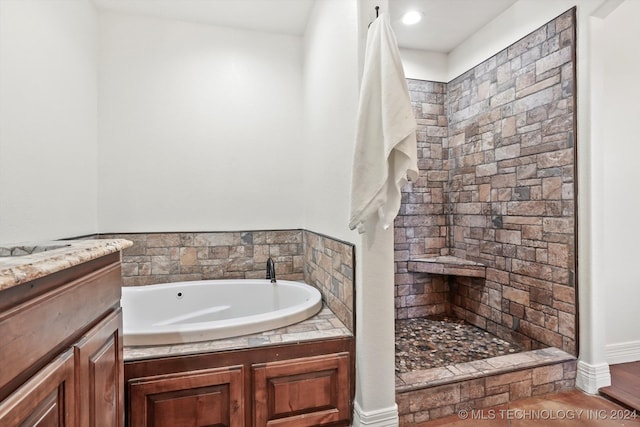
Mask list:
[[279,278],[303,278],[302,230],[108,236],[133,242],[123,253],[125,286],[185,280],[264,279],[269,257],[276,262]]

